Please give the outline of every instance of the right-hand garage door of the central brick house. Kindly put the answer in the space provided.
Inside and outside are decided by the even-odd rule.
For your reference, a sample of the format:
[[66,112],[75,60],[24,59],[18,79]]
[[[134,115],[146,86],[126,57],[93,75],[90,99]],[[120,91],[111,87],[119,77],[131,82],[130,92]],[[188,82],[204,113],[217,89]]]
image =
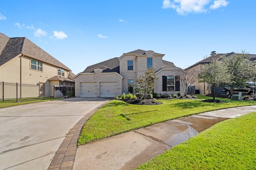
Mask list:
[[100,82],[100,97],[116,97],[116,82]]

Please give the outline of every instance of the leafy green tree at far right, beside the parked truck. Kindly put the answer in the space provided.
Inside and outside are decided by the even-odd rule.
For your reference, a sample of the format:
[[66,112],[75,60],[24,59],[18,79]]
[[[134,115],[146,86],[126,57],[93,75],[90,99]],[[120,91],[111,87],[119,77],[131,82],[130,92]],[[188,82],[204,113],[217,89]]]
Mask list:
[[248,59],[248,53],[242,51],[242,53],[236,53],[230,59],[226,59],[228,63],[228,71],[232,75],[231,81],[228,84],[231,88],[231,95],[233,95],[233,89],[235,87],[244,88],[246,81],[251,78],[254,70],[253,63]]

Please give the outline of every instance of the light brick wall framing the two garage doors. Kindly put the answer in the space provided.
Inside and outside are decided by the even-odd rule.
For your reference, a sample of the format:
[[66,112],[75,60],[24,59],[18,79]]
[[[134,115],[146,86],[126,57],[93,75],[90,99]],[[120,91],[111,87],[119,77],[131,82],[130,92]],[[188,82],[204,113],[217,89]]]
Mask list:
[[97,97],[100,97],[100,82],[116,82],[117,95],[122,94],[122,76],[116,72],[105,73],[101,69],[95,69],[94,73],[79,73],[75,77],[75,92],[76,97],[80,97],[80,83],[96,82]]

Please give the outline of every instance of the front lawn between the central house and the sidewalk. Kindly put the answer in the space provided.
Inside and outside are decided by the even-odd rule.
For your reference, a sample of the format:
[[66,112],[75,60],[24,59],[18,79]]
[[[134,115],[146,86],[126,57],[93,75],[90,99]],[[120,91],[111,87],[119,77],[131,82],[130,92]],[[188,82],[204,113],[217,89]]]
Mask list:
[[[199,96],[198,98],[211,99]],[[158,100],[161,105],[142,106],[132,105],[120,100],[112,100],[94,113],[84,125],[78,145],[84,145],[128,132],[134,129],[150,126],[156,123],[203,113],[206,111],[225,109],[230,107],[256,105],[255,101],[234,101],[216,98],[226,103],[207,103],[201,100]]]

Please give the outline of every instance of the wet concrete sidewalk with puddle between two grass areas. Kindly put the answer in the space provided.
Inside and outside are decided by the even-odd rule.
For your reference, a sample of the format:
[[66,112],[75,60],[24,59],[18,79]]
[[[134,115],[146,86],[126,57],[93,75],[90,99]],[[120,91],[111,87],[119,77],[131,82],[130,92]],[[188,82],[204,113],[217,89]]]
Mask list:
[[212,125],[256,111],[256,106],[209,111],[79,146],[73,170],[131,170]]

